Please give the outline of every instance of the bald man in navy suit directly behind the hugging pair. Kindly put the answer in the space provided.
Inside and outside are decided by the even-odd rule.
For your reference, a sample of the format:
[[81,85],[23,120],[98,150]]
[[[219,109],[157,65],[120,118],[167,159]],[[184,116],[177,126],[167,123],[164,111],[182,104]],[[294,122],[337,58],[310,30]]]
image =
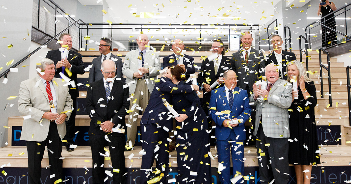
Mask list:
[[163,68],[179,65],[183,68],[186,79],[190,77],[190,74],[195,73],[194,58],[183,53],[184,42],[180,39],[176,39],[172,42],[173,54],[163,58]]

